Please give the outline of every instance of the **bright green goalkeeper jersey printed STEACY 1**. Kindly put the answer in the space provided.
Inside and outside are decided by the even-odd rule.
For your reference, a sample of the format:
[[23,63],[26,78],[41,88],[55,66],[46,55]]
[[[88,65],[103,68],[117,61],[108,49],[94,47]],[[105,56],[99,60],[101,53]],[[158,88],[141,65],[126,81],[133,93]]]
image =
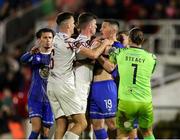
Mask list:
[[110,61],[118,65],[120,75],[118,97],[125,101],[151,102],[151,76],[155,55],[136,47],[116,49]]

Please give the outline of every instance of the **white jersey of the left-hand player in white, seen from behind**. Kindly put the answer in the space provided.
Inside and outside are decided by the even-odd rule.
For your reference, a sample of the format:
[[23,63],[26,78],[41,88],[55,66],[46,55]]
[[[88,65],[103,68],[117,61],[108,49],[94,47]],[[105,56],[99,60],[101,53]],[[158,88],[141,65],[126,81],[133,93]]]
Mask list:
[[58,79],[71,79],[74,77],[73,60],[75,59],[75,50],[70,47],[68,42],[73,42],[67,34],[59,32],[55,35],[54,44],[54,67],[50,70],[49,82]]

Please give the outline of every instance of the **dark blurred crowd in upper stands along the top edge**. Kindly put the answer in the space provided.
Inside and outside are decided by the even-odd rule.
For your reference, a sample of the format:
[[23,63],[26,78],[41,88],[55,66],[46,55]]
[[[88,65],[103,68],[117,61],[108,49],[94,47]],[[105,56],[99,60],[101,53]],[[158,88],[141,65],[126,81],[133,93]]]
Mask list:
[[[0,20],[24,12],[42,0],[1,0]],[[178,0],[53,0],[58,11],[93,12],[99,18],[131,19],[178,19]],[[104,10],[106,9],[106,10]]]

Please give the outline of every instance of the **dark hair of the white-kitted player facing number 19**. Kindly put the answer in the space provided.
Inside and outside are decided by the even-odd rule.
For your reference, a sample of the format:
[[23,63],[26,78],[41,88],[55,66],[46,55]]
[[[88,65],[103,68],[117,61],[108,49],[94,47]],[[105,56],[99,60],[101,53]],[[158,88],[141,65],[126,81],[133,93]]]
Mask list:
[[86,25],[88,22],[92,21],[93,19],[97,19],[97,17],[92,14],[92,13],[81,13],[79,16],[78,16],[78,21],[77,21],[77,27],[78,28],[83,28],[84,25]]

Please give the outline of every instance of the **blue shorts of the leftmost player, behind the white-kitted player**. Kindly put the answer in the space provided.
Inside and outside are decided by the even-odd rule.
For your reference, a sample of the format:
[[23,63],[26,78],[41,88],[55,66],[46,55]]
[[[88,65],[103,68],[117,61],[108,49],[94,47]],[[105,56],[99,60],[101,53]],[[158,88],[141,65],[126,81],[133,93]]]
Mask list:
[[54,123],[54,116],[49,102],[28,100],[29,117],[40,117],[43,126],[51,127]]

